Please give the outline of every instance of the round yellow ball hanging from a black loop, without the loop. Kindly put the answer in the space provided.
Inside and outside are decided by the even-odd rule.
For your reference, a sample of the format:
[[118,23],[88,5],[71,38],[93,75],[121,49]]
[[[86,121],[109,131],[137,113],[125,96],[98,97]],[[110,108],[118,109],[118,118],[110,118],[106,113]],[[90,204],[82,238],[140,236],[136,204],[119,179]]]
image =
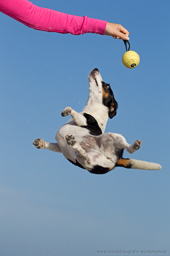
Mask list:
[[123,54],[122,63],[126,68],[136,68],[139,61],[140,57],[137,52],[128,51]]

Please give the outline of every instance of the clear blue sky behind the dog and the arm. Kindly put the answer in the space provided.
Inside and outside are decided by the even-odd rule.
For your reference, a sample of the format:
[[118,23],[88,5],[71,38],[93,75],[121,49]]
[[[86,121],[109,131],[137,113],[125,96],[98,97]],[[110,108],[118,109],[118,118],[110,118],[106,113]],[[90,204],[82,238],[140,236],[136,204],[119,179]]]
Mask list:
[[[169,1],[33,4],[122,24],[140,64],[123,66],[121,40],[37,31],[0,13],[1,255],[170,251]],[[69,118],[61,116],[63,108],[82,110],[93,68],[110,83],[119,105],[106,132],[121,133],[130,144],[142,140],[133,158],[157,162],[160,171],[117,167],[92,175],[33,146],[40,137],[55,142]]]

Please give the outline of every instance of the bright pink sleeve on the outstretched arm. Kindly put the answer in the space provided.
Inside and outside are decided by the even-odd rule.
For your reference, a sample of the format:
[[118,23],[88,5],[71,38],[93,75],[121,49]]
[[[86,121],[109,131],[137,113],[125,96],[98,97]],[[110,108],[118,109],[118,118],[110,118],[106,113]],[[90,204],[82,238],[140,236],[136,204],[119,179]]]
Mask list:
[[107,23],[87,16],[79,17],[38,7],[27,0],[0,0],[0,11],[30,28],[62,34],[104,35]]

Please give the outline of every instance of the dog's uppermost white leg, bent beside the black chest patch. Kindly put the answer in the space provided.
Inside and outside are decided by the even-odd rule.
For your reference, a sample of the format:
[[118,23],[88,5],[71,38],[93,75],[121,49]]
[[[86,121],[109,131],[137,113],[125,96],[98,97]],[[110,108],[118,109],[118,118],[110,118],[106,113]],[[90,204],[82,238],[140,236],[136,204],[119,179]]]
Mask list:
[[61,113],[62,116],[68,116],[71,115],[74,121],[78,126],[87,125],[86,118],[82,114],[76,112],[74,109],[70,107],[64,108],[64,110]]

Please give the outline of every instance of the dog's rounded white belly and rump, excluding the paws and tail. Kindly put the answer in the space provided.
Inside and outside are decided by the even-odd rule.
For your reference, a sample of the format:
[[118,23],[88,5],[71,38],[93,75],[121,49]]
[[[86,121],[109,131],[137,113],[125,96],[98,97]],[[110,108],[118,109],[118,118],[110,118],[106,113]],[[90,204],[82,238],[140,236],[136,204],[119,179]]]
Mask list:
[[[66,141],[66,135],[73,135],[81,148],[91,159],[91,164],[78,165],[76,160],[77,151],[71,148]],[[57,143],[65,156],[70,162],[85,168],[93,173],[105,173],[112,170],[118,159],[122,157],[123,150],[117,148],[116,140],[109,133],[101,134],[100,136],[93,136],[89,130],[79,127],[74,121],[64,124],[56,133]],[[101,168],[102,171],[100,170]],[[106,170],[105,170],[106,169]]]

